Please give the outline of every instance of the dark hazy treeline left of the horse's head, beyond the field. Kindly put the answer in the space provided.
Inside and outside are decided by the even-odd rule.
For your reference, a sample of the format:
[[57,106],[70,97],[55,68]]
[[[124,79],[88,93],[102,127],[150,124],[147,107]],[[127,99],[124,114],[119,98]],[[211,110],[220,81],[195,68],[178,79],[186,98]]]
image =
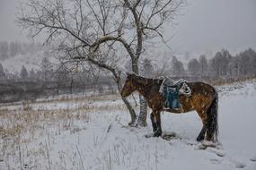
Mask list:
[[113,81],[101,72],[70,68],[66,64],[52,64],[42,58],[40,69],[8,72],[0,63],[0,103],[47,98],[78,92],[102,94],[116,92]]

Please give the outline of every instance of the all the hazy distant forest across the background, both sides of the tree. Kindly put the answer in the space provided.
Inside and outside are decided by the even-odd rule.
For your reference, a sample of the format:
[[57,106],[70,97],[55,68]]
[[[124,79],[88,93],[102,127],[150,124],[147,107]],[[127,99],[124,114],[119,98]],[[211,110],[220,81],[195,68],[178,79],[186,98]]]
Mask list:
[[[43,47],[39,43],[0,42],[0,103],[92,90],[98,94],[117,91],[105,72],[92,72],[85,67],[74,69],[68,64],[51,64],[48,57],[39,61],[38,70],[28,70],[23,65],[20,72],[9,72],[1,64],[1,61],[15,55],[36,55],[40,50]],[[130,72],[127,65],[125,69]],[[187,65],[176,56],[162,65],[153,64],[152,60],[146,58],[141,60],[140,68],[140,74],[148,78],[164,75],[173,79],[210,83],[239,81],[256,76],[256,52],[249,48],[231,55],[228,50],[222,49],[212,58],[207,55],[190,58]]]

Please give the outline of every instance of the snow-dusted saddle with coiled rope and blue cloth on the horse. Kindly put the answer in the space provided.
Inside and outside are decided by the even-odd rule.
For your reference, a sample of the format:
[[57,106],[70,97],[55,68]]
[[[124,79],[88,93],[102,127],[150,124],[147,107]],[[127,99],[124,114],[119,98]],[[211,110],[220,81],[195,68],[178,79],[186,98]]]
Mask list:
[[183,79],[173,81],[171,78],[166,77],[163,77],[162,79],[163,82],[160,86],[159,92],[163,94],[164,107],[179,109],[181,107],[179,103],[179,95],[181,94],[186,97],[191,96],[191,89],[187,85],[187,81]]

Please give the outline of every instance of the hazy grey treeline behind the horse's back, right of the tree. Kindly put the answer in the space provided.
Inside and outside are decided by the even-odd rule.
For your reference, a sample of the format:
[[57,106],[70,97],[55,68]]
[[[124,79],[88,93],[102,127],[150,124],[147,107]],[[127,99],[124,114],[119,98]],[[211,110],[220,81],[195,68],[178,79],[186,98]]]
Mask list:
[[[154,64],[152,60],[144,59],[141,65],[141,75],[149,78],[168,76],[174,80],[206,81],[211,84],[223,84],[233,81],[243,81],[256,77],[256,52],[252,48],[236,55],[222,49],[216,55],[209,57],[188,58],[184,64],[179,57],[172,56],[163,64]],[[130,69],[128,68],[128,71]]]

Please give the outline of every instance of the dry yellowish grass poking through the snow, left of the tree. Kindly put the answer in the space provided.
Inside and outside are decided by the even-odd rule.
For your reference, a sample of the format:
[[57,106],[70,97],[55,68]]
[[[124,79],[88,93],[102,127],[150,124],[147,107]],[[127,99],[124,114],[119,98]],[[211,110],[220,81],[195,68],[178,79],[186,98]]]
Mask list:
[[[0,106],[0,163],[1,160],[7,169],[51,169],[49,157],[50,145],[57,139],[57,135],[64,132],[86,131],[86,124],[92,122],[91,114],[97,112],[111,112],[123,110],[123,104],[109,104],[116,100],[116,95],[90,98],[61,98],[57,100],[33,102],[29,101],[17,104]],[[104,105],[99,102],[108,101]],[[77,102],[77,103],[76,103]],[[64,103],[65,108],[44,107]],[[75,106],[72,105],[75,103]],[[41,106],[40,106],[41,104]],[[71,104],[71,107],[68,105]],[[35,107],[37,106],[37,107]],[[40,146],[29,149],[31,143],[40,141]],[[30,156],[35,159],[46,161],[47,165],[42,168],[38,161],[36,166],[28,167],[25,159]],[[36,161],[34,161],[36,162]]]

